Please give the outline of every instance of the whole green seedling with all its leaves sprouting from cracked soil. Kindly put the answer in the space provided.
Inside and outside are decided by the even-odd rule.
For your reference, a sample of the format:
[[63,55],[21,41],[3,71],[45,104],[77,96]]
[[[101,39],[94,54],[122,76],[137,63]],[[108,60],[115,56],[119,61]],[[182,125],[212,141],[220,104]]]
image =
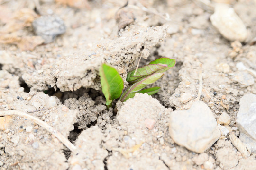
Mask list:
[[161,78],[165,71],[174,67],[175,59],[160,58],[151,61],[136,70],[128,72],[126,81],[129,87],[122,93],[124,82],[118,71],[106,64],[100,68],[101,87],[102,92],[106,97],[106,105],[109,108],[114,99],[119,98],[120,101],[126,101],[135,96],[135,93],[147,93],[149,95],[155,94],[160,90],[160,87],[152,87],[143,89]]

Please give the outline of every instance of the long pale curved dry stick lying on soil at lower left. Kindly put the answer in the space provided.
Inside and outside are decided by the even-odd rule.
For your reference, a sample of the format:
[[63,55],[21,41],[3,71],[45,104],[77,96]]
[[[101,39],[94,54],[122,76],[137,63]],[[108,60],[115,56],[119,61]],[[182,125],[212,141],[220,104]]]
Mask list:
[[55,129],[54,127],[51,127],[46,122],[43,122],[42,120],[39,120],[27,113],[17,111],[17,110],[0,111],[0,116],[11,116],[11,115],[21,116],[21,117],[26,117],[28,119],[31,119],[36,124],[40,125],[41,127],[44,127],[48,132],[50,132],[55,137],[57,137],[69,150],[71,150],[72,152],[75,152],[77,150],[77,148],[67,138],[65,138],[60,132],[57,131],[57,129]]

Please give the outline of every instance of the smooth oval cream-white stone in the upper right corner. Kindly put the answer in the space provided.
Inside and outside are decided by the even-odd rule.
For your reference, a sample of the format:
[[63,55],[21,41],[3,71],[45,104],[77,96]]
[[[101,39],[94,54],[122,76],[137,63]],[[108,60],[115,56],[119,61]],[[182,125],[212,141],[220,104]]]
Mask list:
[[220,34],[229,41],[244,42],[246,40],[246,26],[234,9],[229,8],[227,4],[217,4],[214,14],[210,16],[210,21],[219,30]]

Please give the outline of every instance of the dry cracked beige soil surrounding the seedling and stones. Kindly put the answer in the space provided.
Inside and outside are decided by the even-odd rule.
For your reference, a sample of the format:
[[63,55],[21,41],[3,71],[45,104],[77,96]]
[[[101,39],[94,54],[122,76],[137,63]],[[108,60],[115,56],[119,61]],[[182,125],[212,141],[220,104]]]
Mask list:
[[[229,133],[198,154],[175,144],[168,132],[171,112],[189,109],[196,100],[202,71],[200,100],[216,119],[227,113],[231,122],[225,127],[239,136],[239,100],[256,94],[256,77],[236,67],[243,62],[256,70],[256,46],[250,45],[256,36],[254,1],[230,0],[247,27],[243,43],[229,42],[211,25],[214,1],[207,6],[198,0],[131,0],[126,9],[135,20],[120,31],[115,14],[125,2],[38,2],[40,8],[30,0],[0,0],[0,110],[39,109],[28,114],[55,127],[79,151],[70,153],[31,120],[0,117],[0,170],[256,169],[256,153],[243,156]],[[40,16],[35,9],[58,15],[66,32],[42,44],[31,24]],[[107,110],[98,68],[108,63],[125,80],[140,56],[141,65],[159,57],[177,64],[154,84],[161,87],[155,99],[140,94],[117,102],[117,113]],[[145,121],[152,119],[154,127],[148,128]]]

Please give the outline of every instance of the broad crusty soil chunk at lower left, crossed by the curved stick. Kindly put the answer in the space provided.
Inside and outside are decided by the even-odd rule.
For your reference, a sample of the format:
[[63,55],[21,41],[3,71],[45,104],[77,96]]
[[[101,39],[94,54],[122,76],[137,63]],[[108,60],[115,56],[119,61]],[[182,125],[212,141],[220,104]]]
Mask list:
[[[47,102],[52,100],[48,95],[40,92],[31,96],[23,92],[22,88],[19,88],[17,76],[0,71],[0,85],[5,84],[6,81],[9,82],[8,88],[0,87],[0,110],[33,111],[28,114],[46,121],[67,138],[69,131],[73,129],[77,111],[62,110],[64,105],[61,105],[57,98],[55,98],[55,107],[47,108],[49,106]],[[36,106],[44,110],[34,111],[36,110],[34,102],[38,102],[40,106]],[[0,132],[0,148],[4,150],[2,152],[1,149],[0,157],[0,161],[4,162],[3,168],[18,169],[20,167],[38,170],[43,169],[42,167],[44,169],[68,168],[62,152],[64,145],[43,127],[38,127],[33,121],[17,116],[11,116],[11,120],[5,123],[8,123],[8,126],[5,126],[6,130]]]

